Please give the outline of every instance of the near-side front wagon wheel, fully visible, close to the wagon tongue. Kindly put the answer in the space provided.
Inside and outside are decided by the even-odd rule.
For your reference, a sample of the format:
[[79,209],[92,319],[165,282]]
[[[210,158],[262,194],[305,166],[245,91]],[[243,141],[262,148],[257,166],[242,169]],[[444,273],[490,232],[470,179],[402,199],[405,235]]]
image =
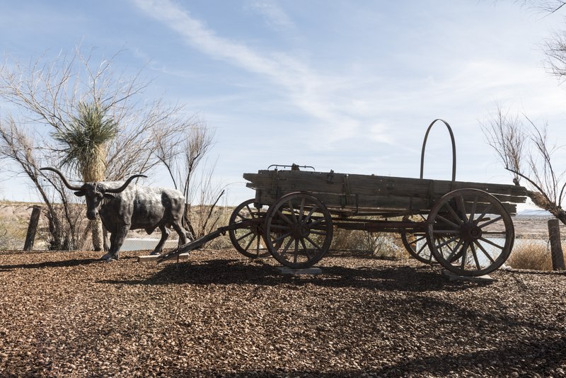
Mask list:
[[330,248],[330,212],[308,193],[289,193],[270,206],[265,219],[265,241],[275,260],[299,269],[309,268]]

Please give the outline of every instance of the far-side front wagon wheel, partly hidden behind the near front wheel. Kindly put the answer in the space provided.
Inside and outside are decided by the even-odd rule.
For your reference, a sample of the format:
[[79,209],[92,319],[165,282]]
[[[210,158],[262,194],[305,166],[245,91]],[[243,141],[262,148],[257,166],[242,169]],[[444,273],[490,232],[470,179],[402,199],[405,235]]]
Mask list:
[[229,225],[248,222],[249,225],[228,231],[230,241],[236,250],[249,258],[267,256],[269,252],[263,241],[263,226],[267,208],[253,206],[255,200],[242,202],[230,216]]

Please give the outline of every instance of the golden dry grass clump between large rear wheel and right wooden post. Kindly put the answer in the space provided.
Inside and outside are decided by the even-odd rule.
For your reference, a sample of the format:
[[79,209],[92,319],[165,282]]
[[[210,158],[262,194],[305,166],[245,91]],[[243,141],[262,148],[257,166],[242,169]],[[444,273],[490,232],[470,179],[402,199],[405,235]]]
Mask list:
[[516,269],[553,270],[548,244],[543,239],[516,239],[507,265]]

